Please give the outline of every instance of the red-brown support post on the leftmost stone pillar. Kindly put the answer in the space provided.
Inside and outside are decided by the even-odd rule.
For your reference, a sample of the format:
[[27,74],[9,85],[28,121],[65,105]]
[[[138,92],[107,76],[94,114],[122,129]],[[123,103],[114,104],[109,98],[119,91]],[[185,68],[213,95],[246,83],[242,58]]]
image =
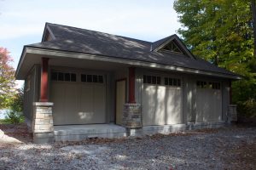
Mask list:
[[40,102],[48,101],[48,58],[42,58]]

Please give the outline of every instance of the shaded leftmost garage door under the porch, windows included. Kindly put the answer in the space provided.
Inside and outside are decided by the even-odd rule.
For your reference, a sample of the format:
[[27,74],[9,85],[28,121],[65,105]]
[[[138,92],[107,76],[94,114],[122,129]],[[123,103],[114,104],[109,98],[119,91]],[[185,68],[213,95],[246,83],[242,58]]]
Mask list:
[[54,125],[106,122],[106,79],[100,74],[51,72]]

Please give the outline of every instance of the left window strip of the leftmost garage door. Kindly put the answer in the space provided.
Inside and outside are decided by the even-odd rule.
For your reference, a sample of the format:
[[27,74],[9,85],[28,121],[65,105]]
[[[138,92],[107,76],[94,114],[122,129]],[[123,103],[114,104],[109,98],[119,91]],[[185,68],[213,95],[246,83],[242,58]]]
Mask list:
[[77,77],[75,73],[68,72],[51,72],[50,79],[52,81],[65,81],[65,82],[76,82]]

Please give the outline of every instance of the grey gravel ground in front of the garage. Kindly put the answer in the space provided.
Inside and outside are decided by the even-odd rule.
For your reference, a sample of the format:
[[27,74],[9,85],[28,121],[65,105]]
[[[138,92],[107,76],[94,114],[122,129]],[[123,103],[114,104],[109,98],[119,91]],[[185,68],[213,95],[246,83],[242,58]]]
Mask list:
[[256,127],[128,139],[0,144],[0,169],[256,169]]

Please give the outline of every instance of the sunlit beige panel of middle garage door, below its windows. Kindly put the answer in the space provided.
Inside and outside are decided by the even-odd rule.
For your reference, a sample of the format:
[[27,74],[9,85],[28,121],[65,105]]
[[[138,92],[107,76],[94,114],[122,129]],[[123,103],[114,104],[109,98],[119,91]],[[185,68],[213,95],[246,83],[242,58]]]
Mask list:
[[144,85],[143,126],[182,122],[181,88]]

